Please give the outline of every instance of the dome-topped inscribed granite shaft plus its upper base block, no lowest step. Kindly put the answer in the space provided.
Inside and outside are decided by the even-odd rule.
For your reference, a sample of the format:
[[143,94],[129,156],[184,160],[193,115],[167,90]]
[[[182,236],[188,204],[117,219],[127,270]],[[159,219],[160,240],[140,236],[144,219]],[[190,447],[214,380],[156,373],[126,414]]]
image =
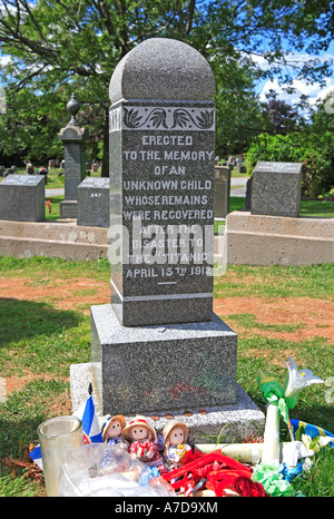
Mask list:
[[[203,256],[214,241],[214,92],[203,56],[169,39],[140,43],[111,78],[110,232],[122,233],[122,247],[118,266],[109,257],[111,304],[91,307],[104,412],[236,401],[237,335],[213,312],[213,265]],[[189,235],[186,251],[177,241]]]

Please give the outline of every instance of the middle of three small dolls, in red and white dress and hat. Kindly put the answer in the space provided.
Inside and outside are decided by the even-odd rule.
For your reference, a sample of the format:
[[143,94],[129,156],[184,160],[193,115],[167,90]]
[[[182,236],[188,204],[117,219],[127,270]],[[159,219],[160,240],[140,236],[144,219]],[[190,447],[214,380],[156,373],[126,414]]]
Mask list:
[[145,417],[136,417],[122,431],[130,442],[129,453],[149,467],[163,467],[163,457],[157,448],[157,435]]

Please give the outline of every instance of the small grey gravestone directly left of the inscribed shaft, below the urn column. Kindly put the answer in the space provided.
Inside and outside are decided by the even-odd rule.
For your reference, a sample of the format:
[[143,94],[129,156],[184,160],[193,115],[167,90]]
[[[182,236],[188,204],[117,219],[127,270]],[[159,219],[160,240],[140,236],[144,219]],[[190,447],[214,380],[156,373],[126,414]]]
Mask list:
[[77,225],[109,227],[109,178],[86,177],[78,187]]

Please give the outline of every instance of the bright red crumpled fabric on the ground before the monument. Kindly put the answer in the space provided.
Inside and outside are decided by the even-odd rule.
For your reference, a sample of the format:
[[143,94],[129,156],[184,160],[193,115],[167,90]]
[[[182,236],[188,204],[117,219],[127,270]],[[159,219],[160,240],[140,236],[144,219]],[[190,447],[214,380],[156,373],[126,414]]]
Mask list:
[[163,474],[175,490],[194,488],[200,479],[206,478],[206,488],[217,497],[226,496],[225,489],[244,497],[265,497],[263,486],[252,481],[250,477],[250,468],[220,451],[204,454],[196,450],[187,452],[181,467]]

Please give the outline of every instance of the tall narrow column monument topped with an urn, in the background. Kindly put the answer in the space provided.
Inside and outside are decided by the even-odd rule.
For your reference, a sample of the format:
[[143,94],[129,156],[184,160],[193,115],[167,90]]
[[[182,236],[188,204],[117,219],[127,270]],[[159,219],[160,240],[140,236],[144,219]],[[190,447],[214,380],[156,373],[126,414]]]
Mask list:
[[65,199],[60,203],[60,218],[77,218],[78,216],[78,186],[86,176],[85,141],[87,131],[81,128],[76,116],[80,109],[75,94],[67,104],[71,114],[69,124],[58,135],[65,144]]

